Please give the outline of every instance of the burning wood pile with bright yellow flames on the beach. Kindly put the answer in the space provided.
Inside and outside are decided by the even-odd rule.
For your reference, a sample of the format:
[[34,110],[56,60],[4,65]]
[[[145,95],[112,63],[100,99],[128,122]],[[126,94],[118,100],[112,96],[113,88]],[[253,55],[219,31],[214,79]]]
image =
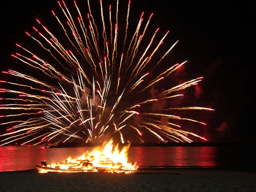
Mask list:
[[[112,172],[132,173],[137,170],[137,162],[132,165],[127,163],[128,149],[130,145],[123,147],[120,151],[118,145],[113,145],[110,140],[106,145],[94,148],[80,157],[67,158],[62,163],[47,164],[41,162],[42,166],[36,165],[39,173],[47,172]],[[114,148],[114,150],[113,150]]]

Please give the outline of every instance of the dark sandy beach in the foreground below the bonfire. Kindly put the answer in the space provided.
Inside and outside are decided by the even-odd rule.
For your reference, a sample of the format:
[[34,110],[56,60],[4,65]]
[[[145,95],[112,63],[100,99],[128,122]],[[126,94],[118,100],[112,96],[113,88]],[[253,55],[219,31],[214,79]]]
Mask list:
[[256,192],[256,173],[204,169],[145,170],[136,174],[0,172],[0,191]]

